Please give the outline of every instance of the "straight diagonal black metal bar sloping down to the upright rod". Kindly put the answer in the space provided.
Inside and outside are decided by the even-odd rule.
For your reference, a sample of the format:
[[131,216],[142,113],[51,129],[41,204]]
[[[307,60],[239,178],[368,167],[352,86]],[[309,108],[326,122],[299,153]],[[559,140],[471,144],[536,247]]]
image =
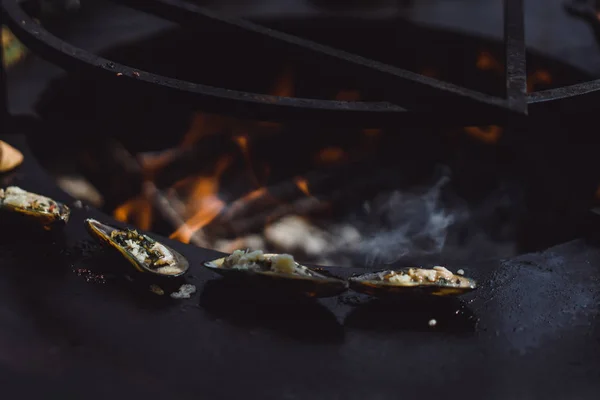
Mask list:
[[[249,21],[217,15],[184,0],[112,0],[137,10],[154,14],[179,24],[213,24],[219,28],[254,34],[261,40],[285,44],[287,50],[301,51],[312,58],[322,57],[344,68],[353,68],[356,79],[385,89],[388,101],[411,111],[487,113],[491,117],[524,115],[511,107],[506,99],[491,96],[449,82],[426,77],[389,64],[370,60],[336,48],[322,45],[288,33],[276,31]],[[312,59],[311,58],[311,59]]]

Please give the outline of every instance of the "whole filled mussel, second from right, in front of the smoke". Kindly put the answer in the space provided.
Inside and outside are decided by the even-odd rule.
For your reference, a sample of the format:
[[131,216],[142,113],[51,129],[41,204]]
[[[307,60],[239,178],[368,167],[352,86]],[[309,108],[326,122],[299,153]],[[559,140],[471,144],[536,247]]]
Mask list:
[[236,250],[229,257],[208,261],[204,266],[224,277],[287,295],[330,297],[348,288],[346,281],[313,271],[298,264],[287,254]]

